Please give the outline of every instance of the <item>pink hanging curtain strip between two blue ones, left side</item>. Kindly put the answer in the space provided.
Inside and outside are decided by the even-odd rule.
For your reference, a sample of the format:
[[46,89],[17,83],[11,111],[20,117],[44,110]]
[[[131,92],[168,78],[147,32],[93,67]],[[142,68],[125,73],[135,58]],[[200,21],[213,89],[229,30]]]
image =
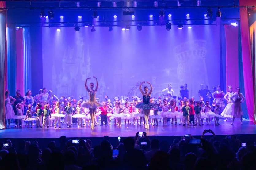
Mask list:
[[16,31],[16,90],[21,91],[24,96],[24,54],[22,28]]

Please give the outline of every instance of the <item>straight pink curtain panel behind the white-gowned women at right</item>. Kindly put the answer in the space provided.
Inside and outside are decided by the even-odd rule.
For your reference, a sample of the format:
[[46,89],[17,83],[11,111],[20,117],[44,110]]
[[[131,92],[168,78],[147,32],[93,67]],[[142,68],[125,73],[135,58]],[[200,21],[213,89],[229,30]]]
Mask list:
[[224,25],[226,36],[226,85],[233,91],[239,86],[238,80],[238,27]]

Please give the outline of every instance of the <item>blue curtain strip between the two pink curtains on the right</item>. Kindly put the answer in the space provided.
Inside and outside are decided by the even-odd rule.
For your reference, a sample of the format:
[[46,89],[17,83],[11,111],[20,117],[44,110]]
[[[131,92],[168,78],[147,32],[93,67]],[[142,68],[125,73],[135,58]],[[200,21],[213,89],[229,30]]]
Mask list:
[[241,44],[241,27],[239,23],[239,28],[238,28],[238,79],[239,79],[239,87],[241,88],[241,93],[243,93],[245,97],[244,103],[242,103],[242,110],[243,110],[243,118],[249,119],[248,116],[248,111],[246,107],[246,96],[245,96],[245,91],[244,91],[244,79],[243,79],[243,60],[242,60],[242,44]]

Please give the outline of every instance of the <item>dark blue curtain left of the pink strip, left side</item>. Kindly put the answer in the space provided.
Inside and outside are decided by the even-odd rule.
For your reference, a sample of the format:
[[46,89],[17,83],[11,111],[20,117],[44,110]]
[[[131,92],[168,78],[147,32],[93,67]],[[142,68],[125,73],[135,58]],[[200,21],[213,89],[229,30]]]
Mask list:
[[7,28],[7,79],[10,96],[16,91],[16,28]]

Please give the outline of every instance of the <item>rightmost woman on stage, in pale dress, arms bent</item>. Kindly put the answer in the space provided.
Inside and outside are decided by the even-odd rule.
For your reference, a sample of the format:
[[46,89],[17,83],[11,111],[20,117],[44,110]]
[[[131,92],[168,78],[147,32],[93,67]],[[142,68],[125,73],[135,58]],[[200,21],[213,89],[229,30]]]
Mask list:
[[232,118],[232,123],[231,125],[233,125],[233,122],[235,120],[235,118],[240,118],[241,124],[243,124],[242,120],[243,120],[243,111],[242,111],[242,107],[241,107],[241,103],[244,102],[245,98],[243,96],[243,94],[240,92],[240,87],[236,88],[237,92],[235,92],[233,94],[233,96],[231,96],[231,101],[234,102],[234,104],[232,105],[232,109],[233,109],[233,118]]

